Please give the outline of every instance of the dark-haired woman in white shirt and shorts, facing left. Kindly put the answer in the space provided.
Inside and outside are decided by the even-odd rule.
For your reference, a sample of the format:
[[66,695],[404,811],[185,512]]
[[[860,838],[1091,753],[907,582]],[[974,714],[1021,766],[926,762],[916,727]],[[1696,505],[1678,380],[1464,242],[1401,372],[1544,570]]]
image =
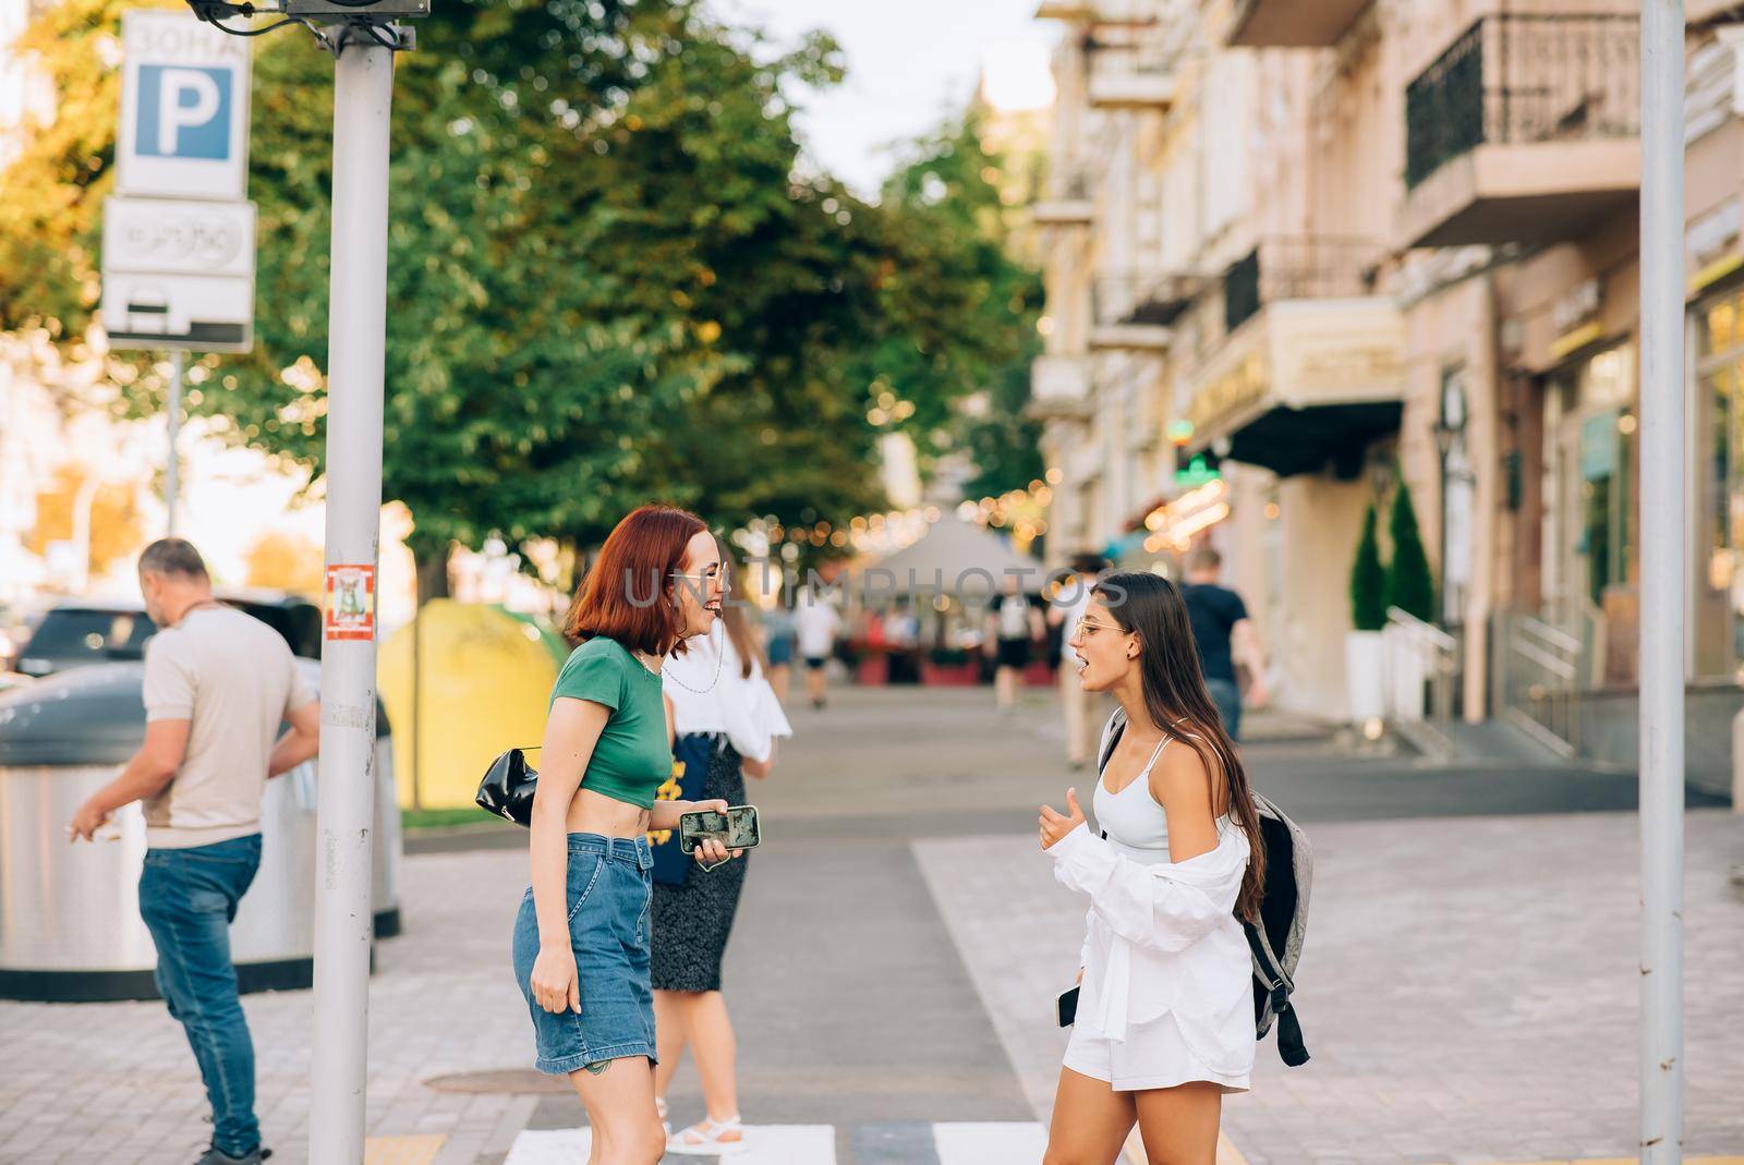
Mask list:
[[1214,1165],[1223,1097],[1254,1067],[1242,917],[1264,888],[1259,818],[1174,582],[1104,577],[1071,647],[1085,691],[1120,708],[1102,734],[1100,828],[1074,788],[1067,813],[1041,807],[1055,877],[1090,898],[1043,1160],[1111,1165],[1137,1121],[1151,1165]]

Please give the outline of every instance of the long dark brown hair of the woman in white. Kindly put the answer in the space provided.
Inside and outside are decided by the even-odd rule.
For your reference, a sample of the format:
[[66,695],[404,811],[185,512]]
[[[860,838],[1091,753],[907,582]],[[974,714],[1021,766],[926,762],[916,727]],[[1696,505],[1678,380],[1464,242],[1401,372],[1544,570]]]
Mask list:
[[[1156,574],[1121,570],[1106,576],[1090,593],[1107,603],[1107,612],[1123,631],[1137,633],[1144,710],[1158,729],[1186,741],[1198,753],[1212,776],[1214,807],[1217,774],[1223,774],[1230,816],[1247,834],[1252,849],[1235,912],[1250,923],[1257,921],[1266,888],[1266,842],[1259,834],[1259,811],[1249,794],[1247,769],[1235,752],[1235,741],[1223,731],[1223,717],[1205,691],[1181,588]],[[1186,720],[1191,731],[1175,729],[1179,720]]]

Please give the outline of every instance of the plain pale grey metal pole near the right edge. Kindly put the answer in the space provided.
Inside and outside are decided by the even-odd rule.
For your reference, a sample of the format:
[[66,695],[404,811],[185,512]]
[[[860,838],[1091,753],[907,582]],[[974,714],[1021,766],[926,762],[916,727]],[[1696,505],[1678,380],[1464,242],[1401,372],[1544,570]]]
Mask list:
[[1641,1162],[1683,1160],[1683,3],[1641,2]]

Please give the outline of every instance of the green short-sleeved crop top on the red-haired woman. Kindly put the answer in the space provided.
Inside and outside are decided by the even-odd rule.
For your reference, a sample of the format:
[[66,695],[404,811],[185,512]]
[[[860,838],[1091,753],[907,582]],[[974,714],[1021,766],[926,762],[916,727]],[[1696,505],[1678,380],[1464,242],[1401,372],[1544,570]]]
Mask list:
[[659,677],[617,640],[595,637],[572,651],[556,673],[551,703],[562,696],[591,699],[612,710],[588,757],[581,787],[651,809],[654,792],[671,776]]

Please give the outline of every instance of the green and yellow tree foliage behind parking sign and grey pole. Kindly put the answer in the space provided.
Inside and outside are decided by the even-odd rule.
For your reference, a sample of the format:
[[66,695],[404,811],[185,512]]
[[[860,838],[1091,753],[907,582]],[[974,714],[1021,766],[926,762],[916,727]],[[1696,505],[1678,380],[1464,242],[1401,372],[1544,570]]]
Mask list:
[[[126,7],[63,0],[21,42],[58,106],[0,173],[0,326],[78,344],[92,321]],[[319,474],[331,58],[300,30],[256,45],[256,347],[195,361],[188,406]],[[586,546],[651,497],[722,525],[844,523],[882,506],[882,431],[950,441],[1039,291],[977,225],[973,150],[931,150],[881,206],[794,176],[785,94],[839,78],[827,38],[774,52],[694,0],[453,0],[419,23],[394,91],[384,413],[384,494],[415,549]],[[110,371],[160,408],[152,359]],[[869,415],[886,391],[907,415]]]

